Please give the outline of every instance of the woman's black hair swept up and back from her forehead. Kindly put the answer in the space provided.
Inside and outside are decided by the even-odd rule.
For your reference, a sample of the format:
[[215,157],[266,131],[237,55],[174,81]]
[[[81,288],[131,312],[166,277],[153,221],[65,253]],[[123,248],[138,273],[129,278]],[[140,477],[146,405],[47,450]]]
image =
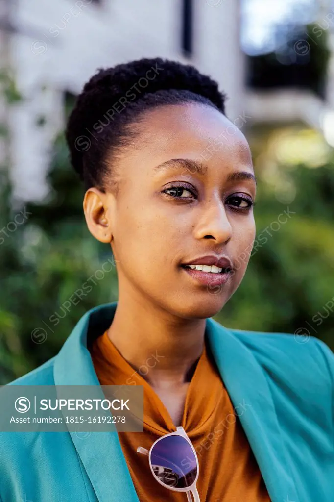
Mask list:
[[[116,170],[108,159],[131,144],[131,124],[156,106],[198,102],[225,114],[226,95],[218,83],[194,66],[167,59],[142,58],[112,68],[99,68],[84,85],[67,122],[66,141],[74,169],[85,189],[105,191],[106,181],[118,189]],[[121,109],[119,109],[121,108]],[[110,164],[109,164],[110,166]]]

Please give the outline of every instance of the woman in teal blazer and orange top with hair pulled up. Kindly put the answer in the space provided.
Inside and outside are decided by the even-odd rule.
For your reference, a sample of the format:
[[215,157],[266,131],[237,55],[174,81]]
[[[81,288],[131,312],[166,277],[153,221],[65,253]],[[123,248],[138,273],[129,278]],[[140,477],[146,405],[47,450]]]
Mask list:
[[2,434],[3,502],[332,500],[329,348],[211,319],[255,238],[251,153],[224,104],[210,77],[159,58],[84,86],[67,142],[119,298],[14,384],[142,386],[143,429]]

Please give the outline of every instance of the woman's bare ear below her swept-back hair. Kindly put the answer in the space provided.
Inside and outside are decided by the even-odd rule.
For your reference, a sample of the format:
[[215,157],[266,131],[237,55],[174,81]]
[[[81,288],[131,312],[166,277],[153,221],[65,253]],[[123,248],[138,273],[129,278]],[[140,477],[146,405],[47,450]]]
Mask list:
[[97,188],[85,193],[83,210],[90,233],[100,242],[111,242],[111,222],[107,217],[107,195]]

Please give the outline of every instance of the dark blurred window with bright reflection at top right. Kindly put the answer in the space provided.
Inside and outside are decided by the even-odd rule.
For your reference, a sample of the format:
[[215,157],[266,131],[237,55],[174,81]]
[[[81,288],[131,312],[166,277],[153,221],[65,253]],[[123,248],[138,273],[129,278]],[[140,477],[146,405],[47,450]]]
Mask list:
[[299,88],[325,95],[325,18],[314,0],[243,0],[241,45],[251,89]]

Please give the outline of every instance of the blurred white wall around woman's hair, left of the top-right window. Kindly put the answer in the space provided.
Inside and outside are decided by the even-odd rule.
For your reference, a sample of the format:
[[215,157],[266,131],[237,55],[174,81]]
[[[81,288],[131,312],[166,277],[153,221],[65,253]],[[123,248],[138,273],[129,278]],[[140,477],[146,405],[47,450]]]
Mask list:
[[52,140],[64,126],[64,92],[80,92],[99,67],[155,56],[191,63],[220,82],[232,119],[243,112],[238,0],[0,2],[7,3],[17,30],[7,31],[7,38],[25,99],[9,116],[19,198],[48,193],[46,167]]

